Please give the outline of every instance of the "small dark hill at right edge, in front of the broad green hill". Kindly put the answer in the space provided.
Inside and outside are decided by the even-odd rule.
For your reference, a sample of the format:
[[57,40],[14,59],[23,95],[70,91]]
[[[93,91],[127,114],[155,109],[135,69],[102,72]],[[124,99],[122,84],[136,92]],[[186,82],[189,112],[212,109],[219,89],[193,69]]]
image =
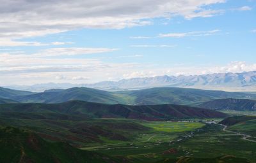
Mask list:
[[198,104],[200,108],[211,110],[256,111],[256,100],[250,99],[216,99]]

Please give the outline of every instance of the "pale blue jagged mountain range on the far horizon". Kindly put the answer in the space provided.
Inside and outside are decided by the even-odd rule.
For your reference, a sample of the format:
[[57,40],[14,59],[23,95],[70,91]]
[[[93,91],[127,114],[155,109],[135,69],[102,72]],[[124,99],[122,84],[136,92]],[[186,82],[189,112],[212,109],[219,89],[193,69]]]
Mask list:
[[132,90],[152,87],[187,87],[195,89],[255,91],[256,71],[244,73],[216,73],[190,76],[156,76],[149,78],[131,78],[120,81],[102,81],[92,84],[45,83],[31,86],[13,85],[11,89],[44,91],[48,89],[69,89],[72,87],[90,87],[103,90]]

